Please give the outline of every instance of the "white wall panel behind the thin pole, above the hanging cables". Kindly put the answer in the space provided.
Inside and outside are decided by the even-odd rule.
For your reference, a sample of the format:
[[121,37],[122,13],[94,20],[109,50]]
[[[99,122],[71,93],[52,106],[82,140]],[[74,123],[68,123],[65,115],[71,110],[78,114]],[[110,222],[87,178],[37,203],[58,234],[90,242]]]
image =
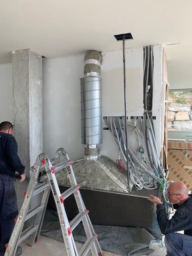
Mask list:
[[[101,66],[103,116],[124,116],[122,50],[103,52]],[[127,116],[143,114],[143,48],[126,49]]]

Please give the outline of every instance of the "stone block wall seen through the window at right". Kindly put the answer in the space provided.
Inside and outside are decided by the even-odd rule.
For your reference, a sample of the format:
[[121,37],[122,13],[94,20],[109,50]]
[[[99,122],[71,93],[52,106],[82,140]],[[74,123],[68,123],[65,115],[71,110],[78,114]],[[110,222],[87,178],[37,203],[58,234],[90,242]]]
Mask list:
[[192,92],[170,92],[168,130],[192,130]]

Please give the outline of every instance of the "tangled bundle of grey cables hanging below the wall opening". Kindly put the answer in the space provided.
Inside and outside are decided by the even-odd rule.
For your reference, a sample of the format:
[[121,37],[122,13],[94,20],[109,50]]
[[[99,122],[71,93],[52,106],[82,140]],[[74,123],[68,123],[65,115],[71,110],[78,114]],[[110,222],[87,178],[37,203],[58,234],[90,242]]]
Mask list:
[[[124,164],[120,159],[120,153],[126,162],[126,142],[125,142],[125,122],[124,118],[119,116],[107,116],[104,117],[105,122],[112,132],[114,140],[119,146],[119,155],[117,159],[117,165],[119,169],[124,172]],[[155,189],[157,183],[160,184],[160,178],[155,175],[150,163],[144,156],[144,149],[142,147],[142,132],[135,124],[127,124],[128,127],[133,128],[137,135],[138,145],[136,149],[132,150],[128,142],[128,158],[130,162],[130,178],[138,190],[142,188]]]

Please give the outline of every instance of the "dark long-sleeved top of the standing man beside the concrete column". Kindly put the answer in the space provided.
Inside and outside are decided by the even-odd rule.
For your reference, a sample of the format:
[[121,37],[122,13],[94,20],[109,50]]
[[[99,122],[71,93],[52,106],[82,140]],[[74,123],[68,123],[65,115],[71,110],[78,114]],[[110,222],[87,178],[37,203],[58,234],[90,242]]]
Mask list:
[[22,165],[17,154],[17,142],[11,134],[0,132],[0,174],[14,177],[17,171],[24,174],[25,166]]

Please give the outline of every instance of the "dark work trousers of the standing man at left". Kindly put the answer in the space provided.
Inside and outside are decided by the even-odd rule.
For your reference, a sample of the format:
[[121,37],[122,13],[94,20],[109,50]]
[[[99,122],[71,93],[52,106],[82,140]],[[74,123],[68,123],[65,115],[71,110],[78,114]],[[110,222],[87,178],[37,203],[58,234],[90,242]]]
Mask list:
[[18,214],[13,178],[0,174],[0,256],[4,256]]

